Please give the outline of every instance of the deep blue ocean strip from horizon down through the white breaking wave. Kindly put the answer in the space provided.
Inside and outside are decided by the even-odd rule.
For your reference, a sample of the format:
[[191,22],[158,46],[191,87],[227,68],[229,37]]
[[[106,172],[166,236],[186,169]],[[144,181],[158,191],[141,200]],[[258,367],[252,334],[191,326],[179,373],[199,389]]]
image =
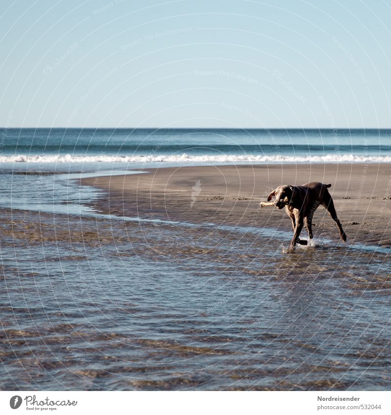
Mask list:
[[[9,129],[5,167],[61,163],[391,162],[391,130]],[[110,166],[111,166],[110,165]]]

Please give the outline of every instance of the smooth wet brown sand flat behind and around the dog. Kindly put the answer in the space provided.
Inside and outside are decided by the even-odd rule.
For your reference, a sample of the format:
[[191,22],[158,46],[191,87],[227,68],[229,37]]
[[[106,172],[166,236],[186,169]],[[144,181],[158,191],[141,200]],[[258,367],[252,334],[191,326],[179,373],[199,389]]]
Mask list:
[[[91,177],[81,184],[104,190],[94,208],[117,216],[289,230],[285,211],[261,209],[260,201],[281,184],[331,183],[348,243],[391,246],[390,164],[197,166],[143,172]],[[313,230],[314,238],[339,239],[323,206],[314,215]]]

